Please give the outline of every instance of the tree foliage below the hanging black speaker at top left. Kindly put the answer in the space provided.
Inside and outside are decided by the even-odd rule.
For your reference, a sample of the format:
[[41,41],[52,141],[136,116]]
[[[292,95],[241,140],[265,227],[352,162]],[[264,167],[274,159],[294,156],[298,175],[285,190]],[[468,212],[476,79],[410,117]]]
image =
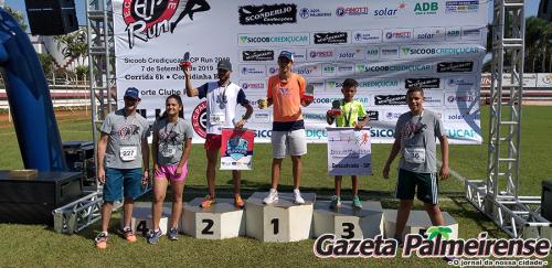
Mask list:
[[54,40],[57,41],[57,49],[62,50],[65,58],[76,58],[78,65],[84,64],[84,55],[88,53],[88,36],[84,29],[54,36]]

